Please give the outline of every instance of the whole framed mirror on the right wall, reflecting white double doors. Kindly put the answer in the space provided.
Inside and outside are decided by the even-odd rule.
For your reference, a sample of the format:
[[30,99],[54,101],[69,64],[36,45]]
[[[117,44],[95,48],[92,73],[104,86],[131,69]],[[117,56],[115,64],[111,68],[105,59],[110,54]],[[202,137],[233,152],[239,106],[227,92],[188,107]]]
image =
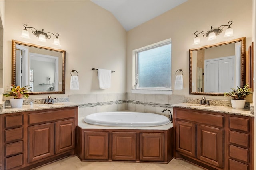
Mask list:
[[189,49],[189,94],[224,96],[244,87],[246,37]]

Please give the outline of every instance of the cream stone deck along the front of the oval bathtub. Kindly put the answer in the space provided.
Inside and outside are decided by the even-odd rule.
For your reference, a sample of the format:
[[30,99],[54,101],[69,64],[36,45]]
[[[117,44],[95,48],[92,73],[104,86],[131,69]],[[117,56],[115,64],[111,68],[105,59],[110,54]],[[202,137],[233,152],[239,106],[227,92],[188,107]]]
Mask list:
[[100,126],[91,125],[84,122],[84,117],[78,118],[78,126],[82,129],[140,129],[140,130],[168,130],[172,128],[172,123],[162,126],[150,126],[150,127],[116,127],[116,126]]

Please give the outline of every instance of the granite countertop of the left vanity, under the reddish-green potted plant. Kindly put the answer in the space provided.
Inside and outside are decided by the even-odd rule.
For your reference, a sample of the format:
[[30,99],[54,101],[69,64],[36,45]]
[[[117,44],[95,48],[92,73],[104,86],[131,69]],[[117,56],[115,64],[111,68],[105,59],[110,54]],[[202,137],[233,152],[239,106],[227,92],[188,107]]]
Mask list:
[[79,106],[79,104],[75,104],[73,102],[60,102],[53,104],[31,104],[31,105],[23,105],[22,107],[4,107],[3,111],[0,114],[5,113],[17,113],[23,111],[36,111],[36,110],[45,110],[45,109],[57,109],[64,107],[75,107]]

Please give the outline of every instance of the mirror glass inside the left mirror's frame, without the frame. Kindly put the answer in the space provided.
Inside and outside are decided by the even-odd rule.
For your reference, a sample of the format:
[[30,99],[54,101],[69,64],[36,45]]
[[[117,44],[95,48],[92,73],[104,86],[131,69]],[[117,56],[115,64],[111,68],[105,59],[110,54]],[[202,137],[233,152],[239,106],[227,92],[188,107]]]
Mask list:
[[16,85],[30,85],[33,92],[58,91],[62,56],[54,56],[54,52],[46,55],[42,50],[16,45]]

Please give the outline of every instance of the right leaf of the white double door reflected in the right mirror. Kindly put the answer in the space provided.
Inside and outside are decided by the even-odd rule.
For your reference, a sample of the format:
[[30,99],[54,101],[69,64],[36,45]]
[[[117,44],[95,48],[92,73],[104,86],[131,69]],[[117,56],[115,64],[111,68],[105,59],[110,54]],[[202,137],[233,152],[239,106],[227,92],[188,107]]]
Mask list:
[[219,92],[229,92],[234,88],[234,57],[219,60]]

